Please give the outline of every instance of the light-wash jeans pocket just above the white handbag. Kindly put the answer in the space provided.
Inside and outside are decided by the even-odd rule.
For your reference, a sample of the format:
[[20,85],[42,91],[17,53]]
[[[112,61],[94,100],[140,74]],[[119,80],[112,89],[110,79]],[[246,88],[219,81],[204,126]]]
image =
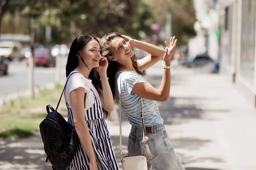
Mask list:
[[[140,141],[140,148],[144,155],[144,142]],[[154,159],[157,156],[156,144],[154,142],[154,139],[146,141],[146,153],[147,153],[147,156],[146,156],[147,160],[149,161]]]

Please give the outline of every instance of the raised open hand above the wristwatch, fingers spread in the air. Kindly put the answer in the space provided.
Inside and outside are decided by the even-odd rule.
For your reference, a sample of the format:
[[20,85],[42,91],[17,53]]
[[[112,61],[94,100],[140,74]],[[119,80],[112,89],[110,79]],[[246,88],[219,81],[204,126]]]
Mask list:
[[172,53],[176,47],[177,39],[175,39],[175,36],[170,38],[170,45],[165,41],[165,44],[167,45],[165,54],[163,56],[163,60],[165,62],[166,66],[169,66],[171,64],[172,59]]

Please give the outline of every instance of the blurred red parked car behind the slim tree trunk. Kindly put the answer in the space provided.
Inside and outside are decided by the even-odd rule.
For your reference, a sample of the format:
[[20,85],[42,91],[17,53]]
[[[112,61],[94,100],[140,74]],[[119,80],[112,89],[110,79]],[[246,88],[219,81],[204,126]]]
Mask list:
[[[55,67],[56,58],[51,55],[51,51],[48,48],[35,48],[34,55],[35,66]],[[27,56],[26,63],[29,65],[31,54]]]

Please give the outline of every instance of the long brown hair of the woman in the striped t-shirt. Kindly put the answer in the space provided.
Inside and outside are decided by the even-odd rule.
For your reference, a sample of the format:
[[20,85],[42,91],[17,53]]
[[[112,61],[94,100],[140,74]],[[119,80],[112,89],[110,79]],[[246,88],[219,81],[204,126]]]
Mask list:
[[[107,59],[108,59],[108,56],[112,55],[111,54],[111,41],[116,37],[122,37],[122,35],[119,34],[118,32],[111,32],[111,33],[105,34],[102,37],[102,39],[100,40],[100,47],[102,49],[102,56],[103,57],[107,57]],[[122,38],[124,38],[124,37],[122,37]],[[140,75],[144,75],[143,71],[140,71],[138,69],[137,57],[135,55],[133,55],[131,57],[131,61],[132,61],[132,65],[133,65],[134,69],[137,71],[137,73],[140,74]],[[108,59],[107,76],[109,78],[108,82],[109,82],[114,100],[116,100],[115,75],[116,75],[116,72],[117,72],[117,67],[118,67],[118,62]]]

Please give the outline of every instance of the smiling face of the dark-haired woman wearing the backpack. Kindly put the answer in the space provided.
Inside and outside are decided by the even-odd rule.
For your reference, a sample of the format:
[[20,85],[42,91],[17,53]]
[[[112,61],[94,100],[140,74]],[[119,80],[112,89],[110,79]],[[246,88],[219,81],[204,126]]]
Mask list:
[[99,67],[99,60],[101,59],[99,42],[90,40],[81,51],[81,59],[88,68]]

